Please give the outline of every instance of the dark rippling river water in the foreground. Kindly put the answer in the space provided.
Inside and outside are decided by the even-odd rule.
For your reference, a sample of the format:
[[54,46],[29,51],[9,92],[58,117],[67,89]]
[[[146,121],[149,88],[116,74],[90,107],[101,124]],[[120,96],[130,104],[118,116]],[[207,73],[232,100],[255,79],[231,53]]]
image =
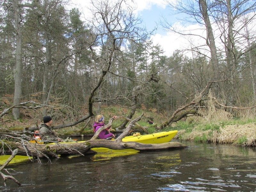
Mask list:
[[7,191],[256,191],[255,148],[183,143],[189,147],[10,165],[22,186],[8,180]]

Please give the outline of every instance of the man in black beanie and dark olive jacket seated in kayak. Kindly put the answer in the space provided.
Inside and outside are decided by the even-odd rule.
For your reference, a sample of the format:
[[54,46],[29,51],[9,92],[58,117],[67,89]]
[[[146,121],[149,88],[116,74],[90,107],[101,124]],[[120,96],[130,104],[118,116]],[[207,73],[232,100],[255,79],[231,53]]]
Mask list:
[[43,141],[63,141],[59,138],[56,133],[52,130],[52,117],[51,116],[44,116],[43,118],[44,123],[39,125],[39,133],[40,137]]

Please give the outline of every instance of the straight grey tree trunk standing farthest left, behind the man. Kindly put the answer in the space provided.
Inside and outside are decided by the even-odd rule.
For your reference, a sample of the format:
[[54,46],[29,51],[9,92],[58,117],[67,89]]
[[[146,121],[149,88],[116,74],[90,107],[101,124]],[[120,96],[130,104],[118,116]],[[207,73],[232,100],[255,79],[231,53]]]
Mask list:
[[[19,0],[12,0],[13,8],[14,8],[14,16],[15,16],[15,30],[16,30],[16,68],[15,68],[15,83],[14,83],[14,99],[13,105],[20,103],[21,97],[21,76],[22,76],[22,36],[21,36],[21,14],[19,10]],[[18,119],[20,117],[20,109],[13,108],[12,115],[14,119]]]

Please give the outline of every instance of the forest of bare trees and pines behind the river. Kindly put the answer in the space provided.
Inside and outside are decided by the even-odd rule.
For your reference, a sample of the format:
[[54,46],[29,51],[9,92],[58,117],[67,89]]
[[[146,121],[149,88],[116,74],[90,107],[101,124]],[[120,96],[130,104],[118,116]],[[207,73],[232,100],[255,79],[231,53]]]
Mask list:
[[68,1],[1,0],[1,128],[33,131],[51,115],[56,129],[81,131],[95,114],[132,118],[144,112],[144,123],[157,123],[153,131],[185,120],[175,128],[185,125],[193,140],[211,140],[226,125],[249,124],[232,142],[254,145],[255,1],[166,0],[182,13],[182,23],[202,27],[193,33],[163,19],[163,28],[191,39],[188,49],[171,56],[152,43],[154,30],[141,25],[132,3],[93,1],[91,18],[82,20]]

